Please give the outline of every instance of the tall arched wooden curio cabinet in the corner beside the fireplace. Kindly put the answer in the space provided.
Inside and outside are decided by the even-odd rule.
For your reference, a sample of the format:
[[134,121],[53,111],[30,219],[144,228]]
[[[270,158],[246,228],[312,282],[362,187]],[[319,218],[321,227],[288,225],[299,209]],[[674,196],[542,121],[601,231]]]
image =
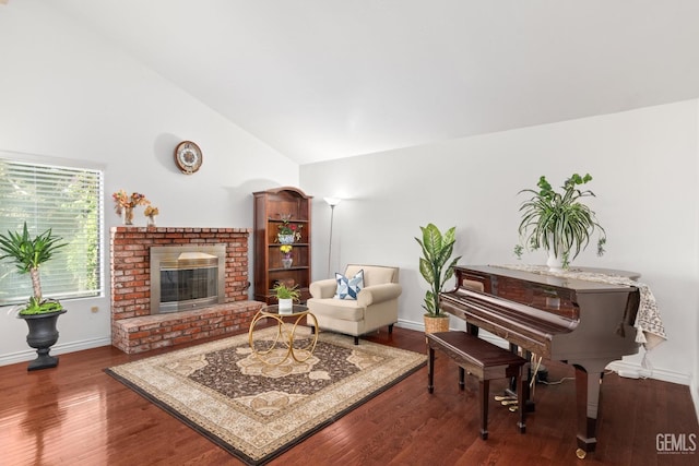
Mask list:
[[[310,202],[298,188],[284,187],[254,192],[254,299],[275,304],[272,288],[276,283],[298,286],[301,302],[310,298]],[[294,242],[289,246],[292,265],[285,266],[282,259],[280,227],[284,220],[295,228]]]

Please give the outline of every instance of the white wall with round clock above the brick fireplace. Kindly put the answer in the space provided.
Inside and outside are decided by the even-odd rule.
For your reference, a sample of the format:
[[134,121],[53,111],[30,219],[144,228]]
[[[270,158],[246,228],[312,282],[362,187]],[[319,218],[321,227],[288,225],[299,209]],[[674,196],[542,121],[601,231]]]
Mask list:
[[[298,184],[297,164],[50,7],[0,8],[0,151],[103,167],[106,248],[119,189],[144,193],[159,226],[251,228],[253,191]],[[192,176],[173,163],[182,140],[204,154]],[[142,207],[135,220],[145,225]],[[109,344],[108,249],[104,259],[105,296],[63,302],[52,353]],[[25,336],[26,324],[0,311],[0,365],[33,357]]]

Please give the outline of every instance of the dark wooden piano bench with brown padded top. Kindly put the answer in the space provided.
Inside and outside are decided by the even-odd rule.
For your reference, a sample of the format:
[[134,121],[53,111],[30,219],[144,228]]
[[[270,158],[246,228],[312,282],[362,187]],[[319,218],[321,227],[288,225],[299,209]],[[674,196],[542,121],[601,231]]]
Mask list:
[[466,332],[428,333],[429,358],[427,365],[427,391],[435,390],[435,349],[439,349],[452,358],[459,366],[459,384],[464,389],[463,374],[467,371],[478,379],[478,398],[481,401],[481,438],[488,438],[488,397],[490,380],[517,380],[517,404],[520,419],[517,426],[524,433],[526,425],[524,407],[524,386],[526,384],[526,360],[514,353],[495,346]]

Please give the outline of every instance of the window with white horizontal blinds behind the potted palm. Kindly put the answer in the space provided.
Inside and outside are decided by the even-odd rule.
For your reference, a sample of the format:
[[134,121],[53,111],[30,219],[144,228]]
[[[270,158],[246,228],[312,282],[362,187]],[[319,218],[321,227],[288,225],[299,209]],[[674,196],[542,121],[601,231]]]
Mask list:
[[[45,298],[99,296],[102,277],[103,172],[27,163],[0,156],[0,231],[35,237],[49,228],[68,246],[39,268]],[[25,303],[28,274],[11,258],[0,261],[0,306]]]

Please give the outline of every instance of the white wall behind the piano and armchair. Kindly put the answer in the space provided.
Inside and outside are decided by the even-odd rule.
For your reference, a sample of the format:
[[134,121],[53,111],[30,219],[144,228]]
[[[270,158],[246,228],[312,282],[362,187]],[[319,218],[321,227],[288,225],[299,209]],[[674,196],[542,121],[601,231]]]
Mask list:
[[[559,187],[572,172],[590,172],[607,253],[589,248],[574,264],[642,274],[668,335],[649,354],[650,375],[685,384],[694,377],[696,386],[698,115],[689,100],[301,166],[301,188],[316,195],[315,278],[328,275],[322,198],[339,195],[331,272],[346,263],[400,266],[401,325],[422,327],[426,286],[413,239],[420,225],[457,226],[462,264],[514,263],[518,191],[535,188],[541,175]],[[544,253],[523,262],[544,263]],[[626,363],[638,368],[642,354]]]

